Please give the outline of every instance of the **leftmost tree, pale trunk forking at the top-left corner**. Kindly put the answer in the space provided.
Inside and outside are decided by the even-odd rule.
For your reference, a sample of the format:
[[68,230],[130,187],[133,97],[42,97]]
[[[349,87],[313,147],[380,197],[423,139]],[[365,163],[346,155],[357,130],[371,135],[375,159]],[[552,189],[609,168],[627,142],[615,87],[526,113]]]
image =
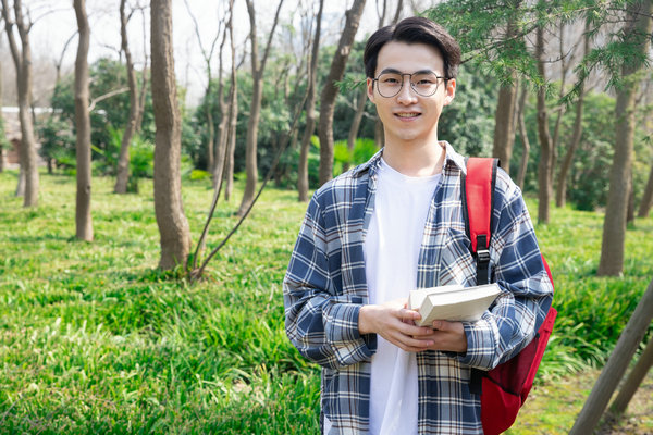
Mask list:
[[[19,90],[19,117],[21,121],[21,175],[17,194],[22,194],[21,183],[24,182],[24,207],[38,204],[38,167],[36,162],[36,140],[34,138],[34,122],[30,113],[32,105],[32,49],[29,30],[34,23],[26,23],[23,17],[21,0],[14,0],[14,20],[11,17],[7,0],[2,0],[2,17],[11,49],[11,55],[16,69],[16,88]],[[21,50],[14,36],[14,26],[21,38]]]

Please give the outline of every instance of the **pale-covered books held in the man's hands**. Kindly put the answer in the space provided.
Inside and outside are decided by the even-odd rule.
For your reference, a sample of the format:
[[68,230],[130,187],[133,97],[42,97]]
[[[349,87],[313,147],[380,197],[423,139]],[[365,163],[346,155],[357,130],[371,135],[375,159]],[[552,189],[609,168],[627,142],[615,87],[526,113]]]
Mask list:
[[410,290],[408,308],[417,310],[418,326],[430,326],[434,320],[476,322],[501,294],[496,283],[475,287],[447,285]]

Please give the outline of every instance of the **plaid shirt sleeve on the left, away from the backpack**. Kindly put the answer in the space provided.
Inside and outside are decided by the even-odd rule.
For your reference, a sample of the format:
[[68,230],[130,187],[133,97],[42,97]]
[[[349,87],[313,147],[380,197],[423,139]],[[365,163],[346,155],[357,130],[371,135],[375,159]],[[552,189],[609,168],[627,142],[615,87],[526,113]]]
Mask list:
[[[330,237],[313,197],[283,281],[286,334],[299,352],[322,366],[338,369],[369,361],[375,335],[361,335],[362,299],[342,295],[330,272]],[[331,241],[333,243],[333,240]]]

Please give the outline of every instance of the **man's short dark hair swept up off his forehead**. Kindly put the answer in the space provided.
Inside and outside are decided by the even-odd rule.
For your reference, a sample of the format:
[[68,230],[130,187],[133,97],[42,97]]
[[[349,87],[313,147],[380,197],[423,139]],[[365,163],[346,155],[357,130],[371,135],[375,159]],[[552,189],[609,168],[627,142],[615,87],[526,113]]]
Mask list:
[[444,60],[444,76],[456,78],[460,64],[460,47],[444,27],[429,18],[411,16],[393,26],[381,27],[370,36],[365,46],[362,61],[365,74],[373,78],[379,51],[387,42],[426,44],[435,48]]

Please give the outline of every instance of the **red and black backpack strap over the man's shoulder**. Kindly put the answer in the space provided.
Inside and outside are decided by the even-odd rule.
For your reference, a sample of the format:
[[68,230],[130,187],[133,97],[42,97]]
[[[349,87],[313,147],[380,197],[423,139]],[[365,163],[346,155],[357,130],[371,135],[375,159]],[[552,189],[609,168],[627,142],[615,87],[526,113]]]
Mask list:
[[494,186],[498,159],[466,159],[467,175],[460,173],[465,232],[477,259],[477,285],[490,283],[490,239],[494,210]]

